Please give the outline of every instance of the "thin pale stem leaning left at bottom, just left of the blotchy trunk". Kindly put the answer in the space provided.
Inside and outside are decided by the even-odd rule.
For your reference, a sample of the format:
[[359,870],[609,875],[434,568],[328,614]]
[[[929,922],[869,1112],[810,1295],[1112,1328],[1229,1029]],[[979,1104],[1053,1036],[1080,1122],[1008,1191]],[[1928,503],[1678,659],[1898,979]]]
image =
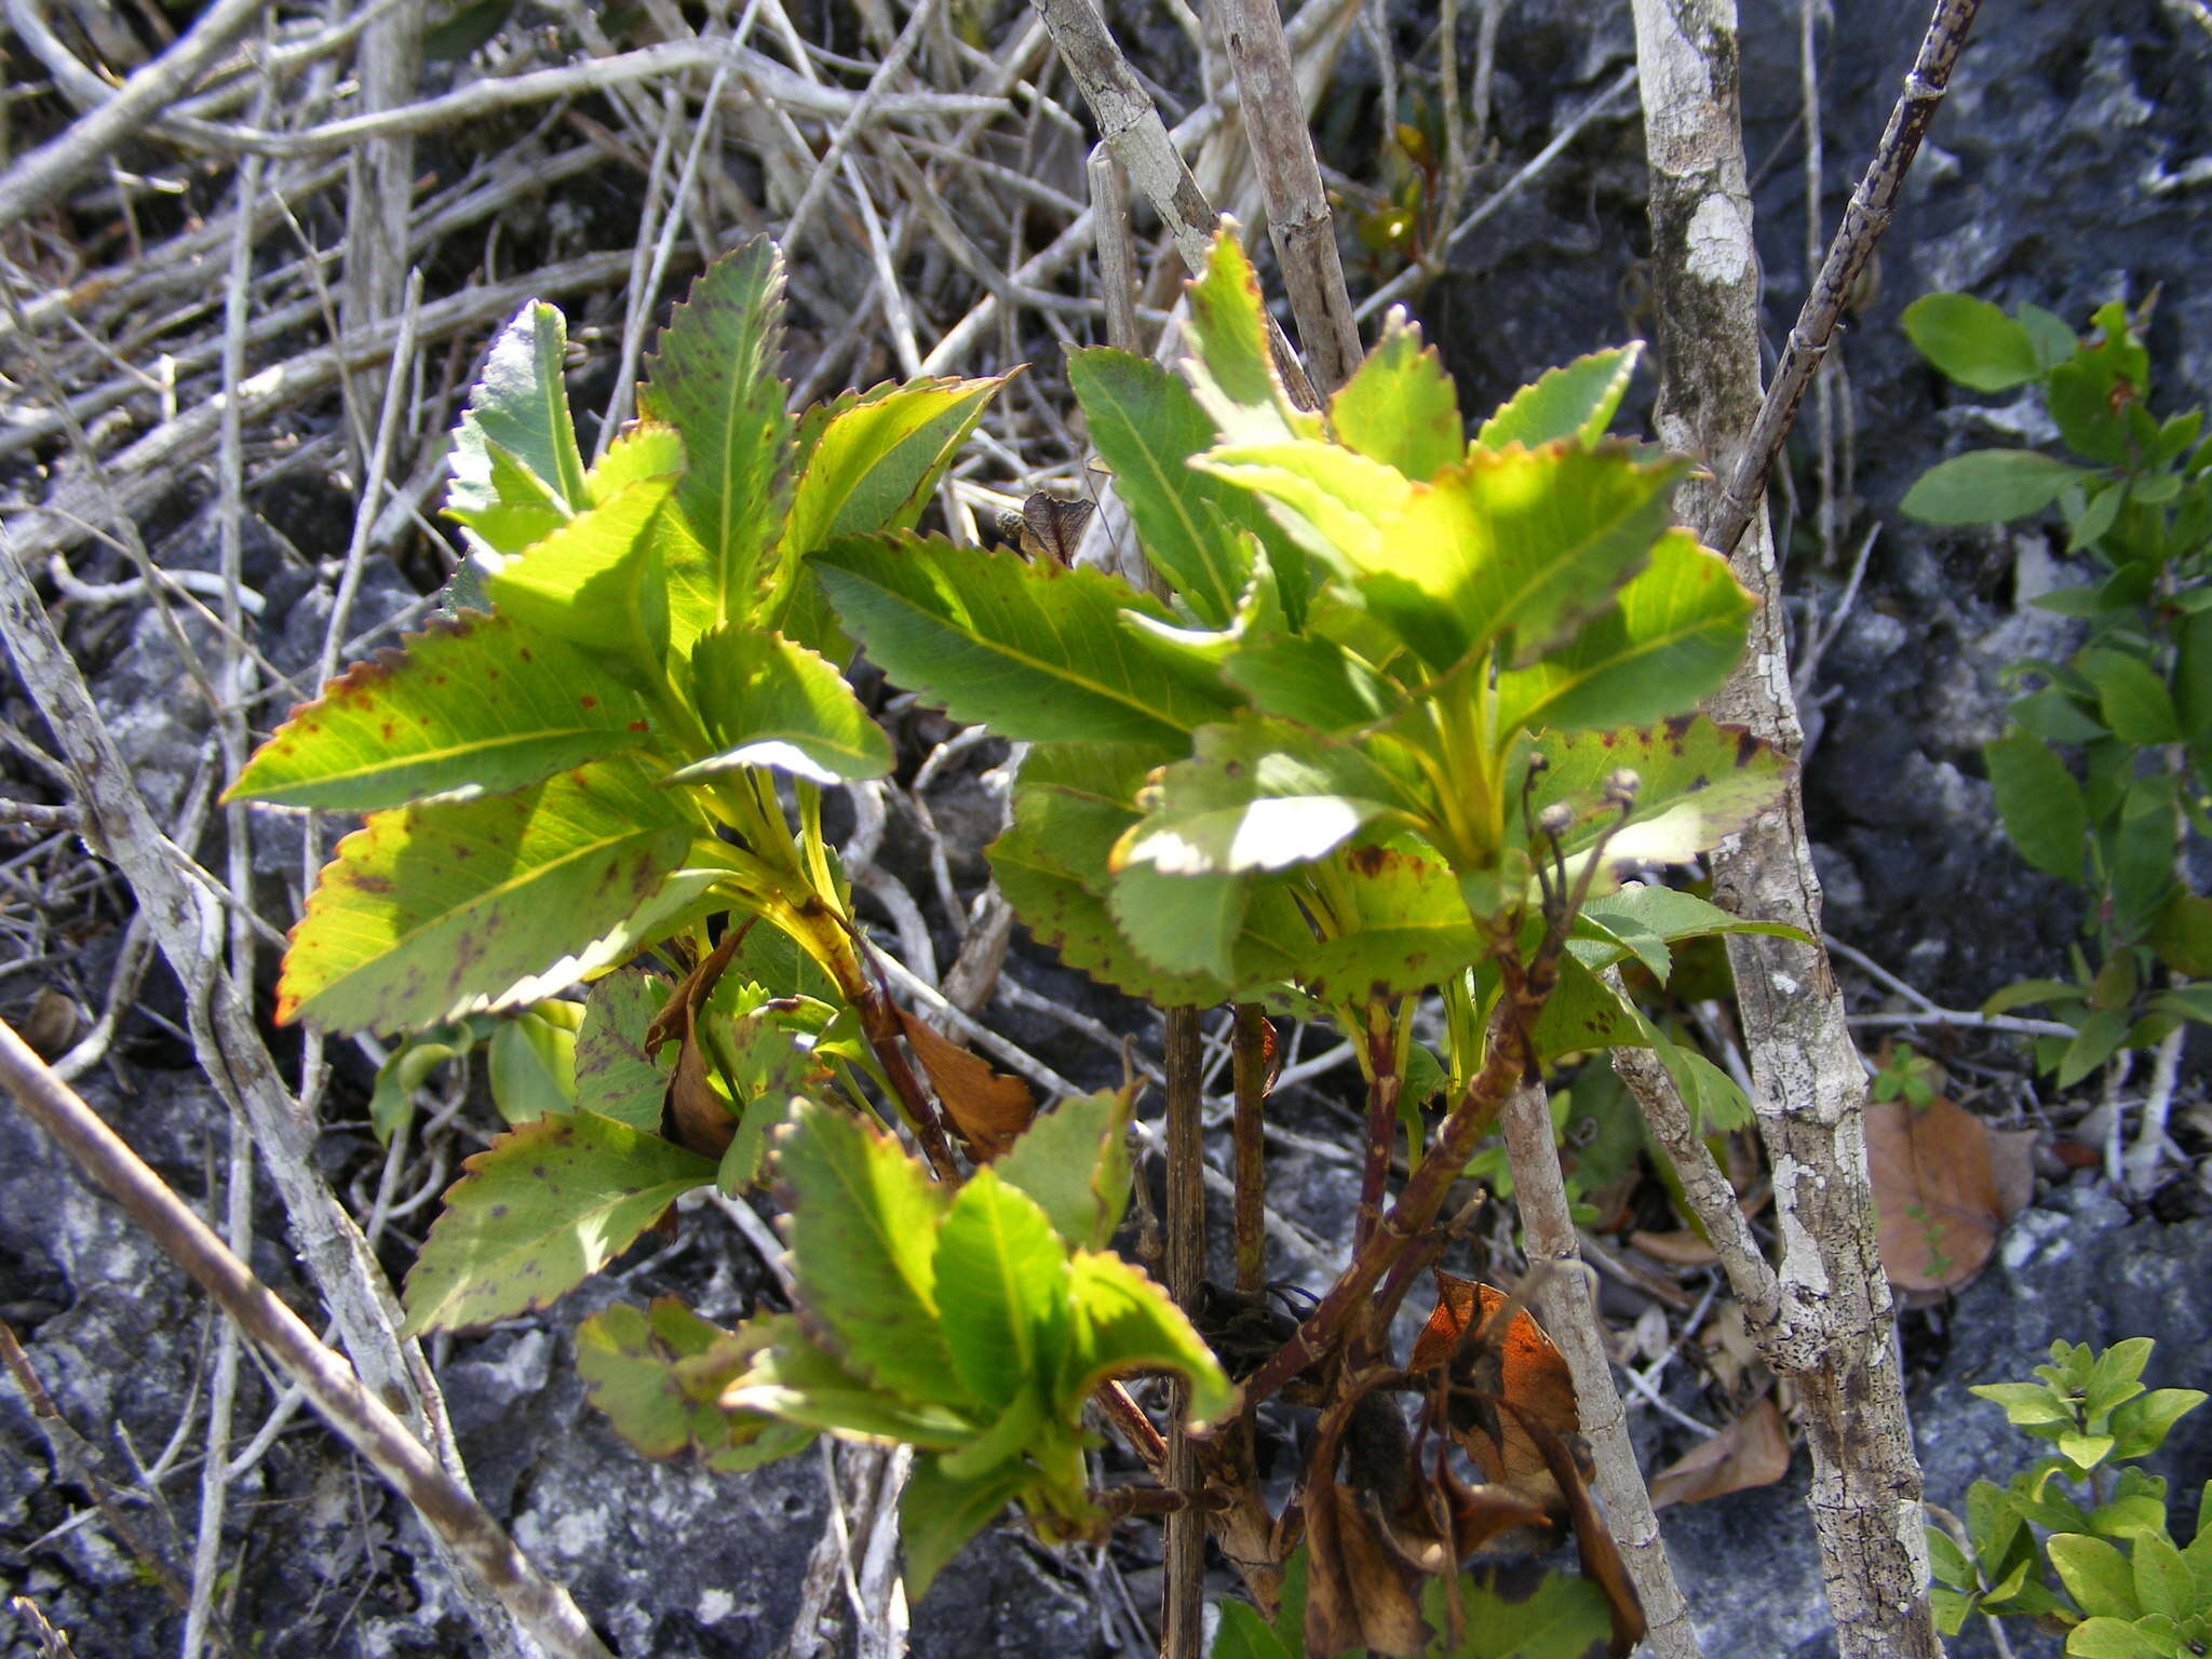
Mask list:
[[[1526,1237],[1528,1270],[1540,1276],[1535,1296],[1544,1307],[1544,1327],[1575,1378],[1575,1409],[1582,1438],[1590,1444],[1597,1495],[1606,1504],[1606,1522],[1621,1546],[1621,1562],[1637,1586],[1637,1599],[1644,1601],[1650,1648],[1659,1659],[1697,1659],[1690,1606],[1674,1582],[1666,1540],[1659,1537],[1652,1495],[1628,1438],[1628,1411],[1613,1383],[1613,1360],[1606,1358],[1590,1270],[1582,1261],[1575,1221],[1568,1214],[1559,1144],[1553,1139],[1544,1086],[1515,1088],[1506,1097],[1500,1128],[1513,1166],[1513,1203]],[[1544,1272],[1544,1267],[1566,1267],[1566,1272]]]

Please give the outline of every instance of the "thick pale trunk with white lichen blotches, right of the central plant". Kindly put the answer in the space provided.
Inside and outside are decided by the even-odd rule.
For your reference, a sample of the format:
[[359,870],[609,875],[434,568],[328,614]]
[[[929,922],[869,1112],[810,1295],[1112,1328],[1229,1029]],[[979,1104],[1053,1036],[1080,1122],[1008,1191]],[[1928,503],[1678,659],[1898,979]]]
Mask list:
[[[1971,0],[1942,0],[1936,33],[1947,18],[1971,15]],[[1668,447],[1708,456],[1725,469],[1761,447],[1752,436],[1761,418],[1759,254],[1743,161],[1734,4],[1635,0],[1635,27],[1663,367],[1655,422]],[[1918,80],[1909,84],[1918,86]],[[1924,117],[1924,100],[1911,95],[1907,102]],[[1889,144],[1882,157],[1893,157]],[[1889,166],[1880,159],[1869,181]],[[1816,296],[1825,283],[1823,274]],[[1752,489],[1745,500],[1756,498]],[[1721,509],[1723,502],[1694,482],[1677,495],[1683,522],[1705,542],[1725,546],[1714,535]],[[1803,730],[1790,690],[1774,546],[1763,513],[1745,507],[1743,524],[1752,535],[1736,549],[1734,571],[1761,608],[1750,650],[1728,686],[1708,699],[1708,712],[1794,754]],[[1820,880],[1796,776],[1776,807],[1723,843],[1712,865],[1714,900],[1723,909],[1790,922],[1818,940]],[[1814,1458],[1809,1506],[1838,1652],[1840,1659],[1938,1659],[1920,1467],[1874,1230],[1867,1077],[1843,991],[1818,945],[1730,938],[1728,953],[1783,1241],[1781,1314],[1763,1358],[1798,1387]]]

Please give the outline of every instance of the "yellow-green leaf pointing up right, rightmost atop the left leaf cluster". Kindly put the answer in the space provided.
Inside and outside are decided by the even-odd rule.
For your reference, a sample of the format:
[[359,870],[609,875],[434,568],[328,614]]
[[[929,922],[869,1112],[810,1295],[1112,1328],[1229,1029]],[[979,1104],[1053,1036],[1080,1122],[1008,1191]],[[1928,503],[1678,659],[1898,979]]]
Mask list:
[[914,529],[1009,378],[880,385],[810,409],[799,434],[805,462],[779,555],[796,562],[838,535]]

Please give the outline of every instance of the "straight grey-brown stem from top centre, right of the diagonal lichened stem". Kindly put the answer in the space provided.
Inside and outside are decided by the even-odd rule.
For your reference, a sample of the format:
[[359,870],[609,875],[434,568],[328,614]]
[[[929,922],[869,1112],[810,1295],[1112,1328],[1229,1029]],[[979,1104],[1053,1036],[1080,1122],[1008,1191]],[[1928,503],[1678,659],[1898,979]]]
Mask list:
[[[1336,215],[1321,184],[1314,135],[1274,0],[1225,0],[1230,62],[1252,164],[1267,195],[1267,237],[1298,319],[1316,389],[1336,392],[1360,363],[1360,330],[1336,254]],[[1449,49],[1449,46],[1447,46]]]

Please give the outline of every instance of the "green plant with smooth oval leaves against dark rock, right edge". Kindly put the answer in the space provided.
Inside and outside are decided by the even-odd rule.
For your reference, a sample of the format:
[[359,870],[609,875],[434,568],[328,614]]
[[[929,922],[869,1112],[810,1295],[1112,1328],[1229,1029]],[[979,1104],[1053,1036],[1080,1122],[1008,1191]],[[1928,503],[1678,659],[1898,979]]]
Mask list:
[[2026,980],[1989,1002],[1991,1013],[2044,1004],[2073,1029],[2037,1040],[2037,1064],[2070,1086],[2121,1048],[2212,1022],[2212,991],[2159,984],[2159,969],[2212,975],[2212,898],[2179,858],[2190,834],[2212,832],[2212,440],[2203,409],[2150,414],[2150,354],[2117,301],[2079,341],[2037,305],[2006,316],[1966,294],[1913,301],[1905,327],[1960,385],[2031,387],[2077,458],[1953,456],[1920,476],[1905,511],[1989,524],[2057,504],[2068,553],[2101,568],[2035,599],[2079,617],[2088,637],[2066,661],[2011,666],[2031,688],[1982,750],[2020,856],[2093,900],[2070,980]]

